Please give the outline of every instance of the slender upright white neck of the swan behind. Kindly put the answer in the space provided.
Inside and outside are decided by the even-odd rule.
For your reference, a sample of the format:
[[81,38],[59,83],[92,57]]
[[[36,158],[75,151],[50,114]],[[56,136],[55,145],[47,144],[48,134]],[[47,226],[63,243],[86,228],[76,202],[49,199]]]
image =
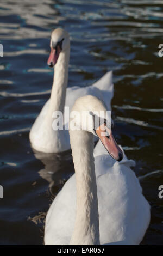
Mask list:
[[51,92],[48,117],[52,119],[54,111],[64,113],[66,87],[68,82],[68,64],[70,58],[70,46],[59,54],[57,64],[54,66],[54,78]]

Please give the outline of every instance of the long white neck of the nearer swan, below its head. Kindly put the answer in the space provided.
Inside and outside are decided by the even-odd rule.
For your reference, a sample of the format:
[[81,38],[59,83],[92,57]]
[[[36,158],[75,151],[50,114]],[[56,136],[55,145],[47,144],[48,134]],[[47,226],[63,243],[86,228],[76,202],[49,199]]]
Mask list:
[[99,245],[99,216],[93,135],[87,131],[70,131],[76,172],[76,221],[70,245]]

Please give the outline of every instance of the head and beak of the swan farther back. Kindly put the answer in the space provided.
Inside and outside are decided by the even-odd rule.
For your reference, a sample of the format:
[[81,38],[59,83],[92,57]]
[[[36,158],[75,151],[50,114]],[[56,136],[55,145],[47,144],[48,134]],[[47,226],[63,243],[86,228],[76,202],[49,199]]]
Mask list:
[[62,28],[54,29],[51,35],[51,53],[49,55],[47,64],[51,68],[57,63],[59,54],[70,48],[69,34]]

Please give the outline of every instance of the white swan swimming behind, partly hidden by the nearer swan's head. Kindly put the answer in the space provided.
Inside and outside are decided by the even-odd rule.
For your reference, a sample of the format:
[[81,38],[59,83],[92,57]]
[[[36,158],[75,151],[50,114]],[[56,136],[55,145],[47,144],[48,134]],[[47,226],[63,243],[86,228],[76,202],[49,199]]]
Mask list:
[[[29,139],[32,148],[44,153],[59,153],[70,149],[70,137],[68,130],[53,130],[53,112],[61,111],[64,107],[71,108],[74,101],[80,96],[94,95],[103,100],[108,109],[113,96],[114,86],[112,84],[112,72],[107,72],[99,81],[88,87],[67,88],[68,63],[70,56],[70,39],[68,32],[57,28],[51,36],[51,54],[48,58],[48,65],[54,66],[54,79],[51,98],[43,106],[39,116],[36,118]],[[67,89],[66,89],[67,88]],[[69,114],[64,120],[68,124]],[[64,124],[66,125],[66,123]]]

